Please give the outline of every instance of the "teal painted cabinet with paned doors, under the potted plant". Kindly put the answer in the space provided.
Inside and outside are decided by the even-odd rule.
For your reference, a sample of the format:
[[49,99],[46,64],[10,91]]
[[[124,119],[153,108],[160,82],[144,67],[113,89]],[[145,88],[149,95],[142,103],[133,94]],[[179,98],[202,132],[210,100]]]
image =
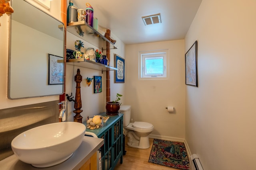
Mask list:
[[[106,112],[99,115],[108,116]],[[110,116],[100,129],[86,129],[86,132],[94,133],[98,138],[104,139],[101,147],[102,170],[114,170],[120,159],[123,162],[123,114]]]

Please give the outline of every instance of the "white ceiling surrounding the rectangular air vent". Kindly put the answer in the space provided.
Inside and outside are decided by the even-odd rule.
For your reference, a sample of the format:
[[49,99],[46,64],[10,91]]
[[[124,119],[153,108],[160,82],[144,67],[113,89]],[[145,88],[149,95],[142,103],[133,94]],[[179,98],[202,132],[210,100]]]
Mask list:
[[[126,45],[184,39],[202,0],[73,0],[74,6],[94,9],[98,25]],[[161,14],[162,23],[145,25],[142,16]]]

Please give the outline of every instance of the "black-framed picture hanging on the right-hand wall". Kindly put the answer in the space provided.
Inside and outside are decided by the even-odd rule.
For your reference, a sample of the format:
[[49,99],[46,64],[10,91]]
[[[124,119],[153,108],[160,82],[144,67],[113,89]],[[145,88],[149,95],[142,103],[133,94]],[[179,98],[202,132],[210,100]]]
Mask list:
[[185,54],[186,84],[198,87],[197,80],[197,41]]

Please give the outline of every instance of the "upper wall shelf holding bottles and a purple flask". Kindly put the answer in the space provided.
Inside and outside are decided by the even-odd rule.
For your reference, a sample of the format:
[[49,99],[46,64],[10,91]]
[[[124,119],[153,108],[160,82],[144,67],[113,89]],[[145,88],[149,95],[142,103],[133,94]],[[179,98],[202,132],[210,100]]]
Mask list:
[[106,43],[104,43],[106,41],[110,43],[110,49],[118,48],[111,41],[106,39],[106,37],[104,37],[102,34],[96,31],[93,27],[88,25],[86,21],[77,21],[77,22],[68,23],[67,31],[87,41],[88,43],[95,45],[96,47],[99,47],[99,44],[100,44],[101,46],[100,49],[102,50],[106,50]]

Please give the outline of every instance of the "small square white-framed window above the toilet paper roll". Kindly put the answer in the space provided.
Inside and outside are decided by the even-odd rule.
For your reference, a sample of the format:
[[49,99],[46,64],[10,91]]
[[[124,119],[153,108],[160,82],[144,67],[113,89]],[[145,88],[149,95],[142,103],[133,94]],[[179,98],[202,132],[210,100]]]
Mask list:
[[140,51],[140,80],[168,79],[168,50]]

